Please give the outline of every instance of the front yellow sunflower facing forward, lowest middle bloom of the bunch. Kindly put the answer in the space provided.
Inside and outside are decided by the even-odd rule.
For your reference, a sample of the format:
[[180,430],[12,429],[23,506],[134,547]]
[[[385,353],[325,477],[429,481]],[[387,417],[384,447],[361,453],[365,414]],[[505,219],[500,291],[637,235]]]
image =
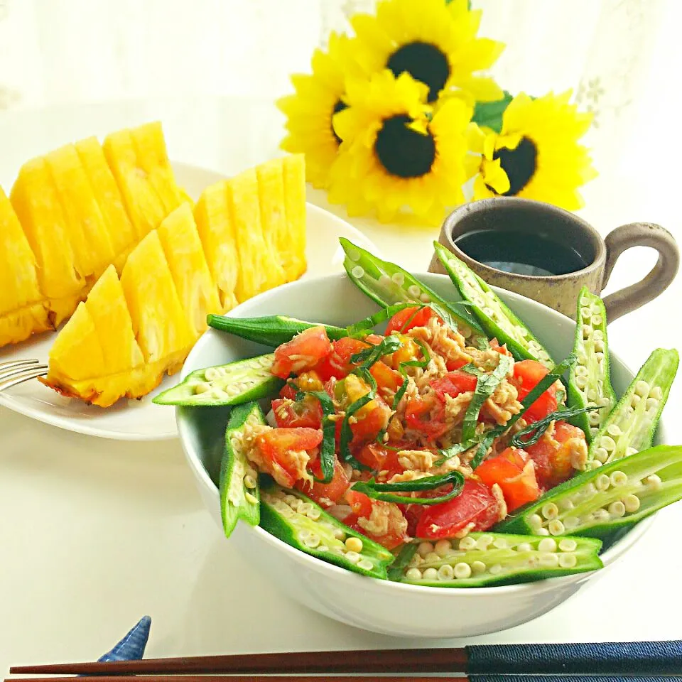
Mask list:
[[388,69],[347,82],[348,108],[334,117],[343,141],[330,202],[345,204],[349,215],[374,210],[382,222],[408,208],[430,224],[462,202],[472,108],[449,99],[433,113],[427,95],[428,85]]

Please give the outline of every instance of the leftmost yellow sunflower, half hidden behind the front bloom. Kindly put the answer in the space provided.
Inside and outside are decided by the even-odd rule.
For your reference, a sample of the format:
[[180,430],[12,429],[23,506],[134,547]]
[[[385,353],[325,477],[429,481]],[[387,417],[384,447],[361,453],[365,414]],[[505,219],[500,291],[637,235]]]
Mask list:
[[329,169],[340,144],[332,117],[345,109],[343,63],[349,38],[332,33],[329,51],[315,50],[313,73],[291,76],[295,94],[277,101],[278,109],[287,117],[288,135],[281,148],[305,154],[305,177],[317,188],[328,185]]

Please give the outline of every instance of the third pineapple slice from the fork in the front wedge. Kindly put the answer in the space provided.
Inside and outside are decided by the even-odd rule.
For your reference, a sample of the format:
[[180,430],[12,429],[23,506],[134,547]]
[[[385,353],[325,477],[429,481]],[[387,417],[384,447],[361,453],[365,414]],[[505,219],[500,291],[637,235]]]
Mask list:
[[145,361],[163,361],[168,374],[177,372],[195,337],[185,319],[156,230],[128,256],[121,285]]

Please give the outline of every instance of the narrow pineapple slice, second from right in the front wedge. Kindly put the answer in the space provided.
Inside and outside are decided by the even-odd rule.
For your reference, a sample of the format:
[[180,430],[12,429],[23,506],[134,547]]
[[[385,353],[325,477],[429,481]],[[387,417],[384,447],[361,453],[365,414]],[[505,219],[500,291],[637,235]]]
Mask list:
[[[291,240],[286,223],[284,168],[281,158],[256,166],[256,176],[263,234],[271,251],[277,254],[280,264],[284,265],[283,256],[288,253]],[[286,269],[284,276],[287,281],[291,281]]]

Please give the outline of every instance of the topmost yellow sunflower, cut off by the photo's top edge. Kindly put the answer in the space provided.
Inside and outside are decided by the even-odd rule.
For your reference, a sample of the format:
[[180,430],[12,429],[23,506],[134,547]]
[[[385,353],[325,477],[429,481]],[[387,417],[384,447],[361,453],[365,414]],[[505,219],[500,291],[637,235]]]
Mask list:
[[364,75],[390,69],[408,72],[428,85],[428,102],[460,91],[480,102],[502,97],[492,78],[474,76],[488,69],[504,49],[502,43],[477,38],[480,10],[470,11],[467,0],[384,0],[377,15],[357,14],[352,61]]

